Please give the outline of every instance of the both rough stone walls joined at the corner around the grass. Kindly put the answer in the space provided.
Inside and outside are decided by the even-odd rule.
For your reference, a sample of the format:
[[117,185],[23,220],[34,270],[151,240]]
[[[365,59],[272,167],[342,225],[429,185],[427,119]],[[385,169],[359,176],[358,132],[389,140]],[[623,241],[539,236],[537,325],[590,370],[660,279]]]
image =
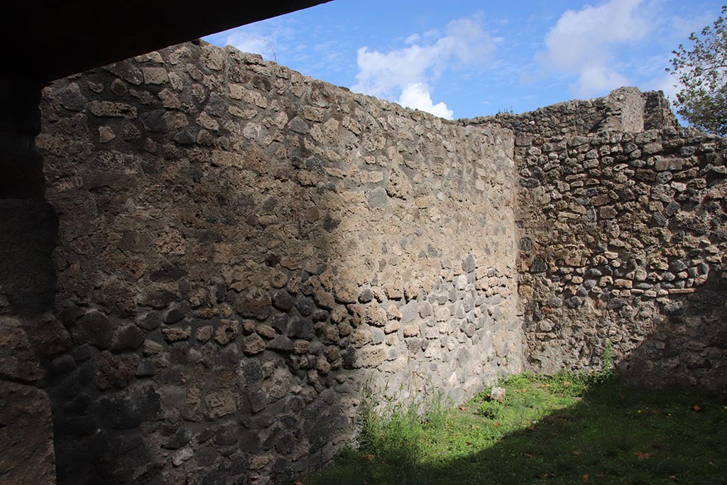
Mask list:
[[364,387],[460,402],[607,349],[727,385],[727,142],[661,93],[451,122],[196,42],[41,107],[55,310],[0,344],[41,356],[60,484],[267,483],[354,439]]

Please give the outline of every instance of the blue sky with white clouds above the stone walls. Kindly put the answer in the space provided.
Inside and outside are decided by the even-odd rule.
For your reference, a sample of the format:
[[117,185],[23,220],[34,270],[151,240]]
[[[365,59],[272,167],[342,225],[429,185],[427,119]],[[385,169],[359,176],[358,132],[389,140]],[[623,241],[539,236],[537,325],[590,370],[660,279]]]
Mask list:
[[334,0],[205,39],[457,119],[624,85],[673,95],[672,50],[722,1]]

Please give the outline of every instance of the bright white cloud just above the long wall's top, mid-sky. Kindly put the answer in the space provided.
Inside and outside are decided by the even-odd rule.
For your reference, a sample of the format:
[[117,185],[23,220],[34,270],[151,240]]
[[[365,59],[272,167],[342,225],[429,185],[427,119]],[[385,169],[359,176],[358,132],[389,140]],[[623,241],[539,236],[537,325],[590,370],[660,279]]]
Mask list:
[[482,28],[481,14],[452,21],[446,35],[414,33],[405,43],[409,46],[389,52],[358,49],[358,73],[351,89],[389,100],[398,98],[401,103],[406,100],[422,111],[450,118],[453,113],[444,103],[433,104],[429,87],[444,71],[481,65],[495,49],[493,39]]

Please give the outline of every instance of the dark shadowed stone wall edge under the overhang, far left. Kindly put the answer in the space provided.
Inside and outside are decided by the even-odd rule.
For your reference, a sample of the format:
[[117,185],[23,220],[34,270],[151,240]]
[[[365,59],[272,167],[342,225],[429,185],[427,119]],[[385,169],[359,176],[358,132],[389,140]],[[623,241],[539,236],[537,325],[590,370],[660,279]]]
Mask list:
[[57,220],[34,143],[40,97],[37,80],[0,76],[1,484],[55,484],[50,401],[36,387],[44,375],[36,354],[70,342],[49,317]]

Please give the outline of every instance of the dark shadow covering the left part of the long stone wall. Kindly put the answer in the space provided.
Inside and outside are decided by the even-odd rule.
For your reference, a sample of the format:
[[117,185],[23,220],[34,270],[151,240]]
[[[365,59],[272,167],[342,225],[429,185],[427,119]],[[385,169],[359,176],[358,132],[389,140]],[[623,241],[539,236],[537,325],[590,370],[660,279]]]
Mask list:
[[331,188],[294,174],[311,159],[301,133],[231,147],[230,105],[200,71],[142,88],[166,71],[136,65],[61,81],[43,106],[56,308],[73,339],[44,363],[58,484],[237,484],[321,465],[358,390],[358,322],[312,284],[341,222],[318,203]]

